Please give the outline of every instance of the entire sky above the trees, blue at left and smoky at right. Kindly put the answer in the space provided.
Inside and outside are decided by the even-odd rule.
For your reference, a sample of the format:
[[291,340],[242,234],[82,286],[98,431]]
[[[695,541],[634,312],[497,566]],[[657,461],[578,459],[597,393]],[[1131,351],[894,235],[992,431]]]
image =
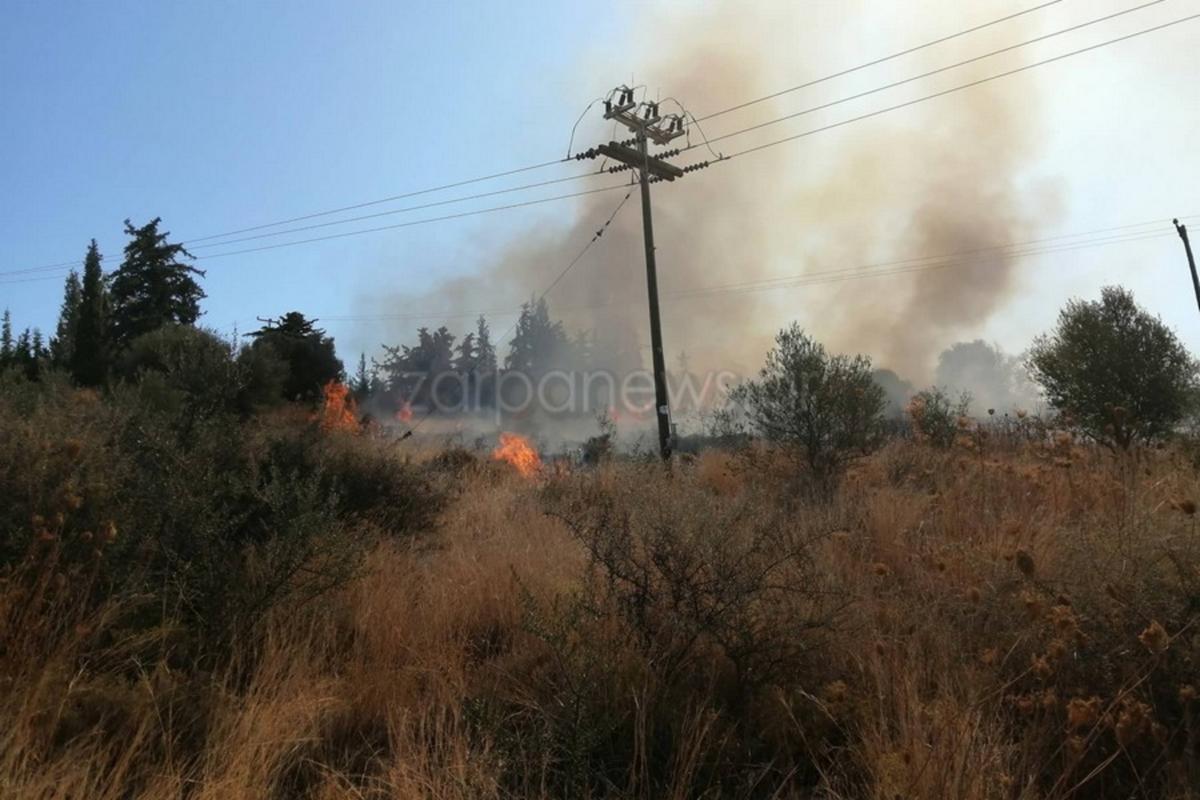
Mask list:
[[[82,258],[90,237],[113,269],[125,217],[140,224],[161,216],[175,237],[187,240],[559,157],[587,103],[617,83],[644,83],[664,97],[685,91],[682,100],[703,115],[1034,5],[6,0],[0,271]],[[713,120],[706,132],[720,136],[1136,5],[1062,0],[985,34]],[[731,152],[799,133],[1195,13],[1200,0],[1165,0],[720,148]],[[929,243],[931,229],[938,242],[991,246],[1158,219],[1168,234],[1159,239],[1013,261],[994,302],[965,302],[958,317],[930,329],[922,347],[983,337],[1016,351],[1052,324],[1068,297],[1123,283],[1200,351],[1200,315],[1169,223],[1171,216],[1200,215],[1196,52],[1200,20],[733,160],[670,191],[656,188],[662,279],[677,289],[724,285],[743,272],[743,279],[762,279],[956,252]],[[581,125],[581,145],[608,138],[598,118],[593,109]],[[581,169],[562,166],[408,203]],[[593,185],[604,184],[565,184],[250,245]],[[971,191],[960,194],[964,187]],[[869,192],[869,200],[856,191]],[[958,197],[965,199],[946,199]],[[300,309],[325,320],[349,362],[360,349],[376,351],[379,342],[443,320],[337,317],[500,309],[539,293],[564,265],[558,259],[582,247],[582,234],[602,222],[619,196],[600,198],[200,260],[208,270],[204,321],[246,331],[257,315]],[[972,212],[943,209],[946,216],[936,210],[940,201],[970,204]],[[936,219],[913,235],[913,221],[930,213]],[[1000,215],[1012,233],[960,229],[989,228]],[[623,223],[632,223],[632,231],[637,219],[631,201]],[[1200,240],[1200,216],[1192,222]],[[704,252],[680,264],[695,231],[704,231]],[[733,260],[745,252],[742,231],[755,237],[755,264],[745,270]],[[522,249],[533,240],[554,245]],[[860,241],[854,248],[830,246],[846,240]],[[608,245],[629,251],[619,257],[630,263],[641,257],[632,239],[602,240],[598,251]],[[498,267],[514,251],[546,263]],[[865,260],[854,260],[860,255]],[[26,279],[47,275],[53,279]],[[0,306],[11,308],[18,326],[53,329],[61,277],[0,275]],[[456,291],[443,293],[455,279]],[[757,351],[774,330],[799,319],[839,349],[895,360],[889,330],[902,330],[932,303],[953,303],[958,288],[934,285],[926,273],[755,293],[752,306],[734,307],[738,318],[726,320],[722,336],[743,331]],[[570,296],[571,289],[563,291]],[[550,300],[553,307],[554,295]],[[706,302],[704,313],[721,308],[716,303]],[[493,329],[504,330],[510,319],[497,317]],[[695,325],[678,320],[667,313],[672,353],[703,356],[707,348],[713,359],[752,366],[750,355],[701,341]],[[461,329],[466,320],[446,321]],[[919,373],[928,359],[914,356],[910,372]]]

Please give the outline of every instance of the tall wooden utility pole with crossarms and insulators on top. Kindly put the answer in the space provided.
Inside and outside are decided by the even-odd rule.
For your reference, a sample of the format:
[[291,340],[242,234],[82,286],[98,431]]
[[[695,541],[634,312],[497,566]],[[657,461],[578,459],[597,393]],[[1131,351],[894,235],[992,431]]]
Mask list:
[[[679,155],[672,150],[650,155],[649,145],[668,144],[684,133],[684,119],[679,114],[660,114],[659,103],[635,102],[634,90],[618,86],[605,101],[606,120],[617,120],[632,133],[632,139],[610,142],[576,155],[576,158],[606,156],[620,162],[607,172],[618,173],[636,169],[642,187],[642,233],[646,239],[646,289],[650,305],[650,355],[654,365],[654,415],[659,423],[659,453],[666,461],[671,457],[671,398],[667,391],[666,359],[662,351],[662,320],[659,314],[659,278],[654,259],[654,222],[650,215],[650,184],[660,180],[673,181],[685,173],[703,169],[708,162],[679,168],[665,161]],[[631,148],[630,145],[635,145]]]

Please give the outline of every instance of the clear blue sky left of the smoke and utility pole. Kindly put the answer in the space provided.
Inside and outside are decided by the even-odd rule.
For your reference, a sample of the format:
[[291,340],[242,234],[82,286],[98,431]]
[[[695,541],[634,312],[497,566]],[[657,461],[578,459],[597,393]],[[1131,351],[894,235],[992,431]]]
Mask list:
[[[113,269],[126,217],[161,216],[186,240],[560,155],[582,98],[612,83],[575,85],[564,66],[613,19],[563,2],[10,0],[0,270],[82,258],[92,236]],[[380,253],[418,287],[470,269],[455,258],[466,234],[505,229],[443,223],[199,264],[204,321],[346,313],[356,267]],[[60,297],[61,278],[0,283],[19,327],[53,329]]]

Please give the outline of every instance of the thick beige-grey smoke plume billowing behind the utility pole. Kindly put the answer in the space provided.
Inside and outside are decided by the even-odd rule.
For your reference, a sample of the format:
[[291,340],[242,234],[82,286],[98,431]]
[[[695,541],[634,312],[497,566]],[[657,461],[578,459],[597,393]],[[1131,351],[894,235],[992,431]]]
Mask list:
[[[672,36],[656,41],[655,48],[648,50],[655,56],[648,62],[593,64],[588,73],[611,73],[619,80],[634,67],[638,77],[653,76],[652,97],[661,85],[662,97],[679,97],[703,115],[830,68],[853,65],[878,48],[896,46],[895,40],[881,44],[848,37],[851,31],[871,24],[865,4],[847,5],[846,12],[836,17],[830,8],[822,8],[824,28],[806,23],[802,26],[802,17],[811,16],[809,5],[780,6],[769,19],[748,18],[742,4],[732,2],[691,23],[680,22],[676,14],[671,18]],[[955,30],[998,16],[1004,7],[986,2],[974,8],[972,4],[968,18],[949,16],[938,28]],[[838,4],[838,8],[844,6]],[[656,26],[652,23],[648,29]],[[958,49],[922,54],[852,80],[710,120],[704,130],[709,137],[720,136],[941,66],[997,42],[1019,41],[1027,32],[1009,25],[994,37],[965,41]],[[920,36],[914,32],[905,43],[920,41]],[[866,98],[714,146],[733,152],[1004,66],[998,62],[956,71],[900,94]],[[1030,83],[1021,84],[1019,91],[990,84],[734,158],[674,184],[655,185],[654,223],[668,363],[686,353],[692,371],[749,374],[761,365],[775,331],[799,320],[833,350],[866,353],[877,366],[890,367],[916,384],[928,383],[937,354],[956,339],[974,338],[989,315],[1012,297],[1019,284],[1015,263],[983,253],[944,269],[888,277],[833,282],[830,276],[821,275],[817,283],[770,291],[748,290],[746,284],[979,251],[1034,237],[1043,216],[1054,207],[1052,193],[1022,188],[1022,167],[1037,145],[1037,119]],[[607,140],[611,134],[610,128],[599,125],[581,126],[577,142],[586,146]],[[694,131],[692,142],[698,139]],[[712,156],[697,149],[677,161],[702,158]],[[601,178],[584,185],[619,180]],[[372,293],[364,299],[362,312],[517,307],[554,278],[623,197],[623,191],[614,191],[583,198],[574,212],[574,224],[527,230],[494,260],[480,264],[476,273],[448,281],[424,296]],[[706,287],[731,289],[678,296]],[[568,327],[594,331],[608,366],[622,369],[648,363],[636,188],[612,228],[547,300],[551,312]],[[460,332],[468,325],[467,320],[450,323]],[[508,320],[496,320],[492,326],[499,335]],[[412,323],[397,323],[380,336],[385,341],[410,341],[412,327]]]

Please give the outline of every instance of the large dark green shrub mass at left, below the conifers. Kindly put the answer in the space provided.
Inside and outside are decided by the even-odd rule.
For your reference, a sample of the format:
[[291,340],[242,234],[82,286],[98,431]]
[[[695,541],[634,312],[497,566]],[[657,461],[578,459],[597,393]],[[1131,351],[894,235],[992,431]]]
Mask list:
[[338,481],[270,463],[235,415],[149,408],[149,391],[0,387],[0,566],[50,541],[96,602],[142,597],[128,625],[181,622],[197,644],[348,578],[368,540]]

